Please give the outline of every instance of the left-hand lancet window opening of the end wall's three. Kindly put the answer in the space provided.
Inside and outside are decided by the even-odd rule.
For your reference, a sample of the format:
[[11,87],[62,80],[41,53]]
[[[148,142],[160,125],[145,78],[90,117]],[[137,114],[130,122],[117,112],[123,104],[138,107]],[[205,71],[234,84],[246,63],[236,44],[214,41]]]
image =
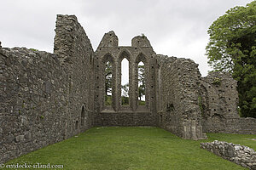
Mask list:
[[113,84],[113,65],[107,61],[105,65],[105,105],[112,105],[112,84]]

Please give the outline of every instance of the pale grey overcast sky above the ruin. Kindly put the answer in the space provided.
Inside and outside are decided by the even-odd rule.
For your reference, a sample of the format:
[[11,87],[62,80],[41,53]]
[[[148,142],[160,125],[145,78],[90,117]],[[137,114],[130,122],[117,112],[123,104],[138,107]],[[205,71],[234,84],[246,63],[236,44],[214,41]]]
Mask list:
[[253,0],[0,0],[3,47],[53,52],[56,14],[75,14],[94,50],[104,33],[119,45],[142,33],[157,54],[195,60],[207,76],[207,29],[229,8]]

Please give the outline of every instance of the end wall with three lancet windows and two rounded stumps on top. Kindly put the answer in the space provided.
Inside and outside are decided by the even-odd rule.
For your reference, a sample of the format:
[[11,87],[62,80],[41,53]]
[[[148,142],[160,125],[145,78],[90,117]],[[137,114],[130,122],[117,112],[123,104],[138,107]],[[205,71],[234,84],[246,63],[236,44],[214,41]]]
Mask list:
[[[96,126],[157,126],[155,114],[155,59],[147,37],[134,37],[131,46],[119,46],[113,31],[104,35],[95,53],[95,117]],[[129,61],[129,105],[121,105],[121,61]],[[105,105],[105,65],[113,65],[112,105]],[[146,105],[137,103],[137,65],[143,61],[146,79]]]

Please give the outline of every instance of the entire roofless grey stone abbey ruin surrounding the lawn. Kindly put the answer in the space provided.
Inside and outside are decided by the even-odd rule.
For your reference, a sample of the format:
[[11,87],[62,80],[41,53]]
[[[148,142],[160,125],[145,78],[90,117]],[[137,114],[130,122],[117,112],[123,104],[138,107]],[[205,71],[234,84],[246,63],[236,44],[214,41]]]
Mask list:
[[[121,61],[129,61],[129,105],[121,105]],[[112,105],[105,105],[106,62],[113,65]],[[138,63],[146,105],[138,105]],[[236,81],[201,77],[191,59],[155,54],[148,38],[119,46],[113,31],[96,51],[74,15],[57,15],[54,54],[0,44],[0,162],[97,126],[162,127],[183,139],[207,132],[256,133],[238,116]]]

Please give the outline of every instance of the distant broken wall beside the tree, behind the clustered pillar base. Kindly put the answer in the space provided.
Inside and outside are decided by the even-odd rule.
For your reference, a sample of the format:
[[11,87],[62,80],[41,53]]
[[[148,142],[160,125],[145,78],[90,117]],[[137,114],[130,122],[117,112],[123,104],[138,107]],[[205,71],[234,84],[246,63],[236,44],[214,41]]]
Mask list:
[[212,72],[201,77],[200,106],[204,132],[256,133],[256,119],[238,115],[237,83],[230,74]]

